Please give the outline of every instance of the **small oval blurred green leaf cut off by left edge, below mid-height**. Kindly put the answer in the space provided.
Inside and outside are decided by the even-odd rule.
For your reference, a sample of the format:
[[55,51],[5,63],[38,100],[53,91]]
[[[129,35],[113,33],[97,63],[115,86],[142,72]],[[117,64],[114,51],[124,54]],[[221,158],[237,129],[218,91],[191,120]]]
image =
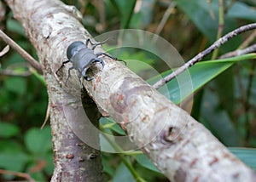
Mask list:
[[15,124],[0,122],[0,137],[10,138],[20,133],[20,129]]

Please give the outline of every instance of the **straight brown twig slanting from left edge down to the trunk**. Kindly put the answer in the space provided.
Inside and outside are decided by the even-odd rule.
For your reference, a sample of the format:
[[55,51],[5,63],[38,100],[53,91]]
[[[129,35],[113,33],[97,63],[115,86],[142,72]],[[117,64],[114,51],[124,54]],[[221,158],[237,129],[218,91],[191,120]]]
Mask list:
[[26,53],[26,50],[21,48],[15,41],[13,41],[8,35],[6,35],[3,31],[0,30],[0,37],[3,41],[9,44],[10,47],[14,48],[25,60],[27,60],[30,65],[32,65],[39,73],[43,73],[42,66],[38,63],[37,60],[34,60],[32,56]]

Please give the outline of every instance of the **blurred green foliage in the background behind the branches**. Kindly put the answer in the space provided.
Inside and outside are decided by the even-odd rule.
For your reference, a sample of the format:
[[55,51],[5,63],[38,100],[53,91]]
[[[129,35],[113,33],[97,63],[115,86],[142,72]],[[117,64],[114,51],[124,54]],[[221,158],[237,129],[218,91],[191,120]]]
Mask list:
[[[157,32],[160,37],[164,37],[177,48],[184,60],[189,60],[212,44],[216,40],[218,31],[217,0],[63,0],[63,2],[75,5],[80,10],[84,17],[84,26],[92,36],[122,28]],[[241,25],[256,22],[255,7],[256,3],[253,0],[224,1],[224,33]],[[169,15],[166,22],[160,28],[160,22],[167,13]],[[25,31],[10,11],[0,24],[1,27],[4,24],[4,31],[16,43],[37,58],[35,49],[25,37]],[[231,39],[219,49],[218,54],[239,48],[251,32]],[[253,43],[255,37],[251,44]],[[5,43],[0,41],[0,50],[4,46]],[[148,46],[154,46],[154,43],[152,45],[149,43]],[[124,49],[118,57],[127,60],[131,70],[144,79],[152,77],[148,75],[148,67],[145,66],[150,65],[160,72],[167,71],[166,65],[162,64],[163,61],[158,61],[145,51]],[[195,86],[191,114],[209,128],[224,145],[255,148],[256,79],[255,63],[251,60],[255,60],[255,56],[246,55],[237,59],[222,63],[212,60],[213,62],[202,62],[191,68],[192,82]],[[144,60],[144,64],[134,65],[130,60]],[[211,58],[207,56],[206,60]],[[47,89],[33,74],[27,77],[3,74],[3,70],[20,70],[20,66],[24,63],[26,60],[14,50],[10,50],[0,58],[0,168],[29,173],[33,179],[47,181],[53,172],[50,128],[47,126],[43,130],[39,129],[44,122],[47,109]],[[22,71],[29,71],[27,65],[22,67]],[[168,71],[163,74],[167,73]],[[207,82],[209,83],[206,84]],[[173,85],[175,80],[168,83],[166,95],[178,103],[181,100],[175,95],[179,88]],[[102,129],[108,133],[124,134],[113,121],[102,118],[101,124]],[[255,150],[247,148],[230,150],[255,169],[256,162],[253,157]],[[124,156],[102,153],[102,164],[106,181],[136,181],[131,168],[137,171],[141,179],[167,181],[152,162],[149,162],[148,158],[139,151]],[[15,175],[0,175],[0,180],[21,179]]]

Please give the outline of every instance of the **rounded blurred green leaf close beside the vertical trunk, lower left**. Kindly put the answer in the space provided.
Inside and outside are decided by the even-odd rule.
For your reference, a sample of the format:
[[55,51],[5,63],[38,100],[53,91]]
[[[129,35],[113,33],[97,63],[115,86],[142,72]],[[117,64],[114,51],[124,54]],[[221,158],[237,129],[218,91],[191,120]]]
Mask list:
[[46,126],[43,130],[31,128],[25,135],[26,148],[33,154],[45,154],[51,150],[50,128]]

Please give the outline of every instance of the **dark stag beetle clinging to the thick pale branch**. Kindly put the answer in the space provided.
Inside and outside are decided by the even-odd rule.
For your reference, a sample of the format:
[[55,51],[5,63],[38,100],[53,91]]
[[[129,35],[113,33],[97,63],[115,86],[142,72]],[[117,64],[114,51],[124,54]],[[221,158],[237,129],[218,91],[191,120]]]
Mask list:
[[[67,64],[68,62],[71,62],[73,64],[72,67],[68,69],[68,77],[70,77],[70,71],[75,69],[79,71],[79,82],[81,83],[81,77],[83,76],[87,81],[92,80],[92,77],[88,77],[86,75],[86,71],[90,68],[91,65],[93,65],[96,62],[99,62],[102,64],[102,69],[104,68],[104,61],[99,58],[101,55],[106,55],[109,58],[113,60],[118,60],[117,58],[114,58],[110,54],[107,53],[94,53],[94,49],[98,45],[102,45],[106,41],[102,43],[92,43],[90,39],[88,38],[86,40],[86,43],[84,44],[83,42],[77,41],[71,43],[68,48],[67,48],[67,59],[64,61],[61,65],[61,67],[56,71],[56,74],[58,71],[61,70],[61,68]],[[91,44],[92,48],[88,48],[88,44]]]

